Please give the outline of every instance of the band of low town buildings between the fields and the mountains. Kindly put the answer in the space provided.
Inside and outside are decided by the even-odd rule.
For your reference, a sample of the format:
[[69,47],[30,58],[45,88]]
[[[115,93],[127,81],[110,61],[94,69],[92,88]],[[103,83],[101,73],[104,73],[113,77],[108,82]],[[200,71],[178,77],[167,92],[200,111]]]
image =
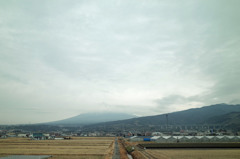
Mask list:
[[[37,128],[38,127],[38,128]],[[180,127],[182,129],[180,129]],[[36,140],[70,139],[71,137],[154,137],[154,136],[238,136],[240,132],[226,130],[221,126],[161,126],[160,131],[143,130],[87,130],[84,127],[51,126],[0,126],[0,138],[25,137]]]

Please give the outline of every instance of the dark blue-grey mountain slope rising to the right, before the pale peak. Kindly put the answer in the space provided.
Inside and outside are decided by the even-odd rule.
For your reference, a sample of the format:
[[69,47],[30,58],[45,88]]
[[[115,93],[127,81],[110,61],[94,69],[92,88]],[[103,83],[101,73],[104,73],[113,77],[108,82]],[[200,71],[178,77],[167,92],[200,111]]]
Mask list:
[[[220,119],[223,118],[226,114],[232,112],[240,112],[240,105],[228,105],[228,104],[216,104],[211,106],[205,106],[201,108],[188,109],[184,111],[178,111],[169,113],[168,116],[168,125],[204,125],[204,124],[224,124]],[[216,118],[213,118],[216,117]],[[232,121],[237,120],[237,116],[225,116],[225,117],[234,117]],[[215,119],[215,123],[212,120]],[[113,121],[102,124],[94,124],[86,126],[85,129],[94,129],[94,130],[155,130],[160,129],[163,126],[167,125],[166,114],[156,115],[156,116],[147,116],[139,117],[121,121]]]

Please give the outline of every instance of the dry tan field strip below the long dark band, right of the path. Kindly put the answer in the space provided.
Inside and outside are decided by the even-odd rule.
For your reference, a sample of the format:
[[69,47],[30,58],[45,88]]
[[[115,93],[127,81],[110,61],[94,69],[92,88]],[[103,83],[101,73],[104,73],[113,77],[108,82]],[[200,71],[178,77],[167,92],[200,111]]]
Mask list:
[[[146,154],[145,154],[146,153]],[[238,159],[240,149],[149,149],[143,153],[156,159]]]

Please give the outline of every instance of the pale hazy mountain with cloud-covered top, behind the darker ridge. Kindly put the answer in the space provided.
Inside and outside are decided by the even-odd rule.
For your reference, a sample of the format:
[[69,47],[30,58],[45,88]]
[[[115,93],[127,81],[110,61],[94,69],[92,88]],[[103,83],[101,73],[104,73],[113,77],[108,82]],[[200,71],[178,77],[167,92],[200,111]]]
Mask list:
[[62,126],[83,126],[89,124],[96,124],[101,122],[117,121],[123,119],[130,119],[136,116],[126,113],[86,113],[80,114],[68,119],[45,123],[46,125],[62,125]]

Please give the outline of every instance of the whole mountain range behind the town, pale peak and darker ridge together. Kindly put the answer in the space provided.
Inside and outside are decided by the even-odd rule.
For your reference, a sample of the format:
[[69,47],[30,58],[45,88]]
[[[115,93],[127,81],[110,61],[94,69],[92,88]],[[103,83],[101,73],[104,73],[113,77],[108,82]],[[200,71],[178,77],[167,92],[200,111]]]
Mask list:
[[[168,117],[168,120],[167,120]],[[168,121],[168,122],[167,122]],[[232,129],[240,131],[240,104],[216,104],[204,106],[201,108],[193,108],[173,113],[160,114],[155,116],[136,117],[125,113],[88,113],[68,118],[65,120],[9,126],[16,129],[27,131],[57,131],[67,127],[69,131],[81,130],[83,132],[114,132],[121,134],[122,132],[153,132],[166,131],[168,125],[173,131],[179,132],[196,126],[200,127],[220,126],[222,129]],[[79,129],[80,128],[80,129]]]

